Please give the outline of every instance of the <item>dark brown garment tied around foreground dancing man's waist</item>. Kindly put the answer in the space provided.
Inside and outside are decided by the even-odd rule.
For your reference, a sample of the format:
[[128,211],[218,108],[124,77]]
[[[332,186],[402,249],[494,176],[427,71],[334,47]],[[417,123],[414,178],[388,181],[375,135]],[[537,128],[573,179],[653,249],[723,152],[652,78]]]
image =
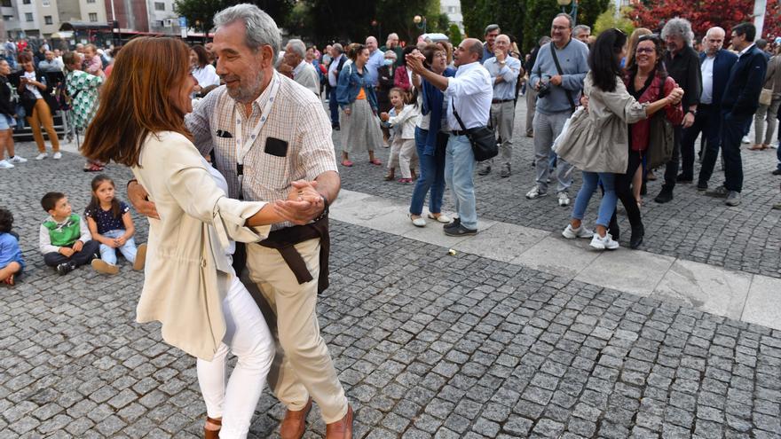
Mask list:
[[318,221],[305,224],[286,227],[278,231],[269,233],[268,238],[258,242],[263,247],[276,248],[280,252],[282,259],[288,264],[288,267],[296,276],[298,284],[305,284],[311,281],[312,273],[306,268],[306,263],[301,254],[296,250],[296,244],[309,239],[320,239],[319,265],[320,273],[318,277],[318,294],[322,293],[328,287],[328,255],[331,252],[331,239],[328,235],[328,216],[323,216]]

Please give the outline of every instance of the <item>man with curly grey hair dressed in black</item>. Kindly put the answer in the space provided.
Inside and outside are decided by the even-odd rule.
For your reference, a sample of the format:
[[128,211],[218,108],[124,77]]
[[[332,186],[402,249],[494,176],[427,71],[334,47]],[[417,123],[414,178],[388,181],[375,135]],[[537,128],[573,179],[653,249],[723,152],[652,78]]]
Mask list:
[[699,55],[691,42],[694,40],[694,32],[691,31],[689,20],[675,18],[667,21],[662,28],[662,39],[667,44],[665,55],[665,67],[667,73],[675,79],[678,87],[683,89],[681,104],[686,114],[683,123],[673,128],[673,156],[667,161],[665,167],[665,183],[662,190],[654,199],[658,203],[667,203],[673,200],[675,183],[691,183],[692,176],[678,176],[678,164],[681,157],[682,129],[689,128],[694,123],[697,115],[697,106],[702,94],[702,73],[699,69]]

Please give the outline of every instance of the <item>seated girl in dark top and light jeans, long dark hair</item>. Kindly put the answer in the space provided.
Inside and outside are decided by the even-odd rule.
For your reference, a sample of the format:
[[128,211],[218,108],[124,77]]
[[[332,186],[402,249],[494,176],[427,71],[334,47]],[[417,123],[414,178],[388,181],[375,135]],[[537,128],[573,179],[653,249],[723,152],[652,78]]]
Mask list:
[[[116,274],[119,267],[116,266],[116,251],[129,263],[133,264],[133,270],[143,270],[146,261],[146,244],[136,248],[133,234],[136,228],[130,217],[130,207],[117,200],[115,196],[114,180],[100,174],[92,178],[92,200],[84,209],[84,217],[87,218],[87,226],[90,228],[92,239],[100,243],[101,269],[95,270],[106,274]],[[98,260],[92,262],[95,266]]]

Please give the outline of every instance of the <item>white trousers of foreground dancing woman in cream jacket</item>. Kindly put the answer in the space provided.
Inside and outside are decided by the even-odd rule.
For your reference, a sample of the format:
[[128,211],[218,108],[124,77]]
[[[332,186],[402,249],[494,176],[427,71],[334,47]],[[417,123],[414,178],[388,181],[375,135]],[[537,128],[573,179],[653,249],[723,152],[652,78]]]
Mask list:
[[[220,437],[245,438],[266,375],[274,358],[274,342],[255,300],[234,276],[223,301],[227,331],[211,361],[197,361],[198,384],[209,418],[223,418]],[[228,351],[239,357],[225,386]]]

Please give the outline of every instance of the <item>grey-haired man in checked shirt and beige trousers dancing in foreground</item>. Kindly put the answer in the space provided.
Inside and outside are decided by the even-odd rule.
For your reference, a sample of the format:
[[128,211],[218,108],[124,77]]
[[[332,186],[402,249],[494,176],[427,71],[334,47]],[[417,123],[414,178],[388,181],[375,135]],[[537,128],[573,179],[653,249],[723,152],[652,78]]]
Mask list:
[[[267,239],[246,245],[249,281],[263,294],[266,315],[276,317],[270,328],[279,350],[268,383],[287,407],[280,437],[304,435],[314,401],[326,423],[326,438],[351,438],[352,409],[317,317],[318,294],[327,287],[327,206],[341,187],[327,115],[317,97],[274,69],[280,30],[268,14],[253,4],[237,4],[218,12],[214,22],[217,74],[225,85],[185,118],[193,144],[202,154],[213,149],[214,165],[233,199],[282,200],[294,187],[313,188],[312,180],[322,196],[307,208],[278,210],[288,221],[274,224]],[[139,212],[156,215],[139,187],[129,184],[128,198]],[[290,220],[305,225],[293,227]],[[234,428],[224,437],[246,437],[257,399],[251,401],[248,385],[233,383],[234,378],[235,373],[227,390],[222,390],[224,380],[201,386],[213,388],[217,416],[228,399],[221,395],[247,393],[248,403],[228,407],[224,419],[244,412],[243,432]],[[209,421],[207,428],[219,425]]]

